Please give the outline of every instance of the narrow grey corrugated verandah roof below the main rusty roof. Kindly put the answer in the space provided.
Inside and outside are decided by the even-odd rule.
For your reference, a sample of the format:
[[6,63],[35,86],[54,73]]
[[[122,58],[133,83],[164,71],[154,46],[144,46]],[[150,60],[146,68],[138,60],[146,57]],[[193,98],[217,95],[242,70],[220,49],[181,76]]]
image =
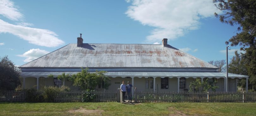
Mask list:
[[[65,74],[77,74],[78,72],[21,72],[21,76],[48,76]],[[91,72],[93,73],[93,72]],[[107,72],[106,76],[170,76],[170,77],[225,77],[224,72]],[[245,78],[248,76],[229,73],[229,77]]]

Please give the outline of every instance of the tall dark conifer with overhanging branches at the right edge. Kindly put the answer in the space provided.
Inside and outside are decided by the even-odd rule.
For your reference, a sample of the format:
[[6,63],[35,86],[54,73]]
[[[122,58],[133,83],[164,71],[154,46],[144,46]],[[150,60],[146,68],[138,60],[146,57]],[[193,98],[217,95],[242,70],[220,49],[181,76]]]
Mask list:
[[222,23],[239,25],[236,33],[226,44],[231,46],[240,46],[243,63],[245,64],[251,89],[256,90],[256,1],[255,0],[213,0],[218,3],[216,7],[223,11],[224,14],[214,13],[219,17]]

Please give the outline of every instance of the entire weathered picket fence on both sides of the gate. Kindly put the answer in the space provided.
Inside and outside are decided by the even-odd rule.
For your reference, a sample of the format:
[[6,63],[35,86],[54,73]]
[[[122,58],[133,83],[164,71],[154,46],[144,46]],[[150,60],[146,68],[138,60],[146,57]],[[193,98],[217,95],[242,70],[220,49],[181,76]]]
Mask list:
[[[60,92],[54,102],[82,102],[84,91]],[[121,102],[119,91],[95,91],[92,102]],[[256,92],[137,92],[136,103],[145,102],[256,102]],[[0,102],[26,102],[25,91],[0,91]]]

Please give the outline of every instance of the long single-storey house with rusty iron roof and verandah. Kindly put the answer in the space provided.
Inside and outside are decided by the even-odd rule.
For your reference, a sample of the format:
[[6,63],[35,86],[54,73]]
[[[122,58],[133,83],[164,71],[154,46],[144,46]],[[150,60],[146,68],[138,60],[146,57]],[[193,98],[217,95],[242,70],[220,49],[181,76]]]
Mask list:
[[[216,66],[168,45],[167,39],[162,44],[88,44],[80,36],[76,44],[68,44],[19,68],[23,88],[40,89],[51,85],[70,86],[71,82],[47,76],[76,74],[81,67],[88,67],[90,72],[107,71],[111,91],[116,91],[122,80],[131,82],[138,91],[178,92],[189,90],[195,78],[216,80],[217,91],[237,91],[237,79],[248,80],[248,76],[231,73],[227,78],[226,73],[216,71]],[[103,89],[99,86],[96,90]]]

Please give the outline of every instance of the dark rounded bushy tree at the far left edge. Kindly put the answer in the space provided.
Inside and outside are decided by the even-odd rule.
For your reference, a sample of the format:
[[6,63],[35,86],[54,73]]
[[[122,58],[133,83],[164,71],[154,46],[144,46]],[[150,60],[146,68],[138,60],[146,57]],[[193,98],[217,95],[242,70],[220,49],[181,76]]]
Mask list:
[[20,71],[4,56],[0,61],[0,90],[15,90],[21,84]]

